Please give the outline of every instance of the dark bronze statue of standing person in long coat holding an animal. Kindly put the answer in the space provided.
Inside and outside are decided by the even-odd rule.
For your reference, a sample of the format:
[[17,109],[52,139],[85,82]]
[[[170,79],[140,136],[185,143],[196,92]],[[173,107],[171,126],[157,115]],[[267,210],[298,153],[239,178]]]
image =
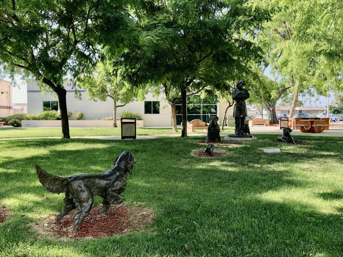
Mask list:
[[232,99],[236,101],[234,106],[235,117],[235,136],[244,136],[244,122],[247,117],[247,105],[245,100],[250,97],[247,89],[243,88],[245,82],[243,80],[238,81],[236,89],[232,91]]

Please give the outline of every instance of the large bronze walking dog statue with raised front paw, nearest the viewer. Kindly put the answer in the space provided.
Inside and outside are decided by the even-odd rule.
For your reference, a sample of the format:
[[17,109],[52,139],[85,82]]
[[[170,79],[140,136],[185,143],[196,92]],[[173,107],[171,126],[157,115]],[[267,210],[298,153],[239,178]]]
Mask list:
[[84,173],[61,178],[51,175],[39,168],[36,172],[39,182],[51,193],[66,193],[63,210],[56,217],[56,224],[71,210],[77,208],[78,214],[73,221],[73,232],[78,231],[80,222],[90,213],[93,205],[93,196],[103,197],[103,210],[109,214],[110,204],[121,204],[119,196],[124,192],[127,183],[127,173],[132,175],[135,163],[132,152],[123,151],[114,160],[114,166],[103,173]]

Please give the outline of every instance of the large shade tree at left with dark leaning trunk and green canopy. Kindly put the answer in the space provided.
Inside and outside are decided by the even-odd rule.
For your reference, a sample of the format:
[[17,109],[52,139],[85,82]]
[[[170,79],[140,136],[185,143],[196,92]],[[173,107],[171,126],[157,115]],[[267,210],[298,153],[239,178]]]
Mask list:
[[[99,42],[116,46],[128,34],[125,1],[0,2],[0,60],[13,79],[34,78],[58,96],[62,138],[70,138],[63,81],[91,72]],[[125,33],[123,33],[125,30]]]

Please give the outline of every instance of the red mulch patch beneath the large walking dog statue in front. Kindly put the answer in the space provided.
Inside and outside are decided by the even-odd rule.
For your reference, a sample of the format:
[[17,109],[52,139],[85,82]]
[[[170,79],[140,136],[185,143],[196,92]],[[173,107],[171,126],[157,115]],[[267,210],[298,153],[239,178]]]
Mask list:
[[93,206],[91,213],[80,223],[78,232],[72,232],[76,210],[64,216],[61,223],[55,224],[56,216],[48,217],[35,224],[44,235],[57,238],[99,238],[143,230],[151,224],[153,212],[138,206],[110,206],[109,215],[104,215],[103,206]]

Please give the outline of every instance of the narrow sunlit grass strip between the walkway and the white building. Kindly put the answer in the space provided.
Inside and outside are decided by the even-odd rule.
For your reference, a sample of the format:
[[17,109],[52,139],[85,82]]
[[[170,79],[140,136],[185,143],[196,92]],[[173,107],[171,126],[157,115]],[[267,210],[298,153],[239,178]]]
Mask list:
[[[120,127],[71,127],[70,136],[120,136]],[[153,128],[153,127],[137,127],[136,133],[142,135],[163,135],[163,134],[181,134],[179,132],[171,132],[170,128]],[[195,132],[203,132],[204,130],[195,130]],[[234,128],[225,128],[225,132],[234,131]],[[51,127],[0,127],[0,138],[21,138],[21,137],[60,137],[62,136],[61,128]]]

